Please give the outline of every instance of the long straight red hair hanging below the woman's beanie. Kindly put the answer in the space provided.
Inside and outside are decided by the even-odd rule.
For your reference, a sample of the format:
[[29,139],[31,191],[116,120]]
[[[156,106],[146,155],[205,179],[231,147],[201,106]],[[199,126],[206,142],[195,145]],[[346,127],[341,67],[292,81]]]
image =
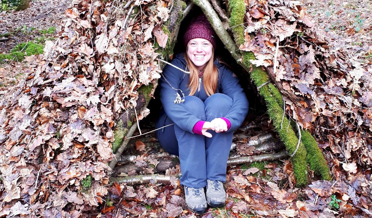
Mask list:
[[[189,84],[187,86],[190,89],[190,94],[195,94],[196,90],[198,90],[199,85],[199,70],[198,67],[195,66],[195,64],[190,60],[190,58],[187,56],[187,47],[185,52],[185,60],[186,60],[186,71],[190,71],[190,80]],[[214,48],[212,49],[212,57],[207,62],[204,73],[203,73],[203,86],[205,89],[205,92],[208,96],[211,96],[212,94],[216,93],[217,91],[217,85],[218,85],[218,70],[217,66],[214,64]]]

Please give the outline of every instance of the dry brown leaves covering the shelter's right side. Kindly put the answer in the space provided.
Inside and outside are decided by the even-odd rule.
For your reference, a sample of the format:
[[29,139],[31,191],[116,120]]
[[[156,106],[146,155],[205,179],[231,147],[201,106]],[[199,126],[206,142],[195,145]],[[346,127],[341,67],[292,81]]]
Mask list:
[[299,1],[253,0],[247,6],[240,49],[254,52],[253,64],[271,69],[286,113],[315,133],[323,147],[372,164],[371,66],[322,40]]

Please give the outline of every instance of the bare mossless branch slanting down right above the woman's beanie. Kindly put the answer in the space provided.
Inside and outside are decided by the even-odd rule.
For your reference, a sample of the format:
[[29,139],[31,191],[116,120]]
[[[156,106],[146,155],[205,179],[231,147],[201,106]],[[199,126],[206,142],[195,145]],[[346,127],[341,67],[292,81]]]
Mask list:
[[194,4],[199,6],[204,15],[207,17],[209,23],[211,23],[214,31],[217,33],[218,37],[221,39],[222,43],[225,45],[227,50],[231,53],[235,61],[241,65],[248,73],[251,71],[245,64],[243,64],[240,51],[236,47],[235,42],[231,39],[230,35],[224,28],[221,20],[219,19],[217,13],[213,9],[211,3],[208,0],[191,0]]

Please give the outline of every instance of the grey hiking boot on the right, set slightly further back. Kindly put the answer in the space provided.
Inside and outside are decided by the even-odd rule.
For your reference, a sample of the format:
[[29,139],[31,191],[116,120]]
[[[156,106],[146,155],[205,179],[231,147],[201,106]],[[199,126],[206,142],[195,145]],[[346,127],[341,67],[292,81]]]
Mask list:
[[225,205],[226,192],[222,182],[207,179],[207,202],[211,207],[221,207]]

